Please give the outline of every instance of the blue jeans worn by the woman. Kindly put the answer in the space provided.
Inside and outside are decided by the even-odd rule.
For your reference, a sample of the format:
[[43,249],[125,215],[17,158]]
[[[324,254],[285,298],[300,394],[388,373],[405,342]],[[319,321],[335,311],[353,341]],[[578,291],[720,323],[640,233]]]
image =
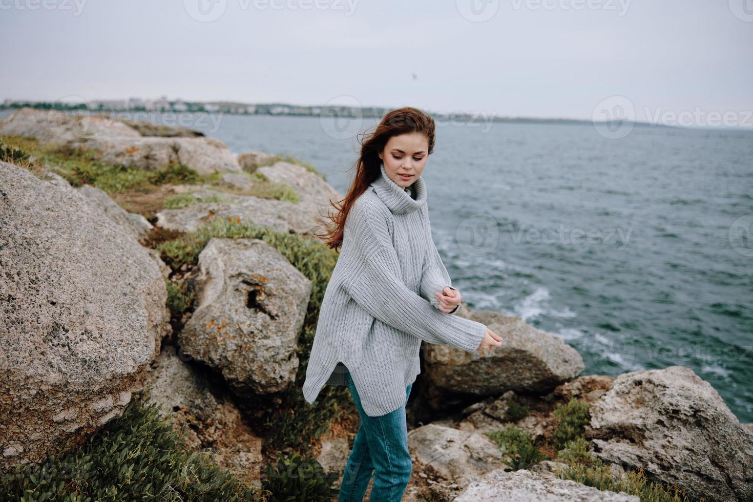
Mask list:
[[358,408],[361,427],[358,427],[358,433],[355,434],[337,502],[364,500],[372,473],[374,482],[369,500],[397,502],[403,497],[413,467],[408,452],[408,430],[405,420],[405,405],[408,403],[413,384],[405,388],[403,406],[386,415],[370,417],[361,407],[361,399],[350,373],[346,373],[346,382]]

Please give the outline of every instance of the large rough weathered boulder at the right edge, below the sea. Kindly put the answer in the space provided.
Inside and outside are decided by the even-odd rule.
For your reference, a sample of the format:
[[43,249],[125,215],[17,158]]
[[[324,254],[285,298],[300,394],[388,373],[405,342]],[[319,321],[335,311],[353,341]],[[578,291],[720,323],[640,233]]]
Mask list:
[[623,373],[590,407],[594,455],[709,500],[753,500],[753,435],[693,370]]

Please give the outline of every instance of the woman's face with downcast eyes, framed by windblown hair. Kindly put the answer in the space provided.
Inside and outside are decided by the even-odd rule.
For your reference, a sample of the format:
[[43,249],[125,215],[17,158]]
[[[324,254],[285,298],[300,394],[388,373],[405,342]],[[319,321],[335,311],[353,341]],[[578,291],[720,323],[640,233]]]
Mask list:
[[392,181],[402,188],[409,187],[421,175],[428,160],[428,138],[420,132],[392,136],[384,151],[379,152],[379,158]]

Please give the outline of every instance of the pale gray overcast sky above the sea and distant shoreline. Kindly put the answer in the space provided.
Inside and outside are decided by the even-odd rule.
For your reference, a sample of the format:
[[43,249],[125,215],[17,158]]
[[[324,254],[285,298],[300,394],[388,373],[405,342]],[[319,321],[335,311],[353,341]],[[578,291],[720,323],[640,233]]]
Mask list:
[[0,0],[0,37],[0,99],[753,110],[751,0]]

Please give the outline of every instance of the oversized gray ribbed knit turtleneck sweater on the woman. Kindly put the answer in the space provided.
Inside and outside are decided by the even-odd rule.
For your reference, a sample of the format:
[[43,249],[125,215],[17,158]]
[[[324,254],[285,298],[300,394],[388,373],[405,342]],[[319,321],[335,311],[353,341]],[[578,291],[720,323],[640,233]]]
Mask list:
[[434,292],[451,287],[450,275],[431,238],[424,180],[411,187],[415,198],[382,166],[350,209],[306,368],[308,403],[326,384],[346,385],[349,370],[367,415],[392,412],[421,371],[422,340],[473,352],[486,333],[439,309]]

